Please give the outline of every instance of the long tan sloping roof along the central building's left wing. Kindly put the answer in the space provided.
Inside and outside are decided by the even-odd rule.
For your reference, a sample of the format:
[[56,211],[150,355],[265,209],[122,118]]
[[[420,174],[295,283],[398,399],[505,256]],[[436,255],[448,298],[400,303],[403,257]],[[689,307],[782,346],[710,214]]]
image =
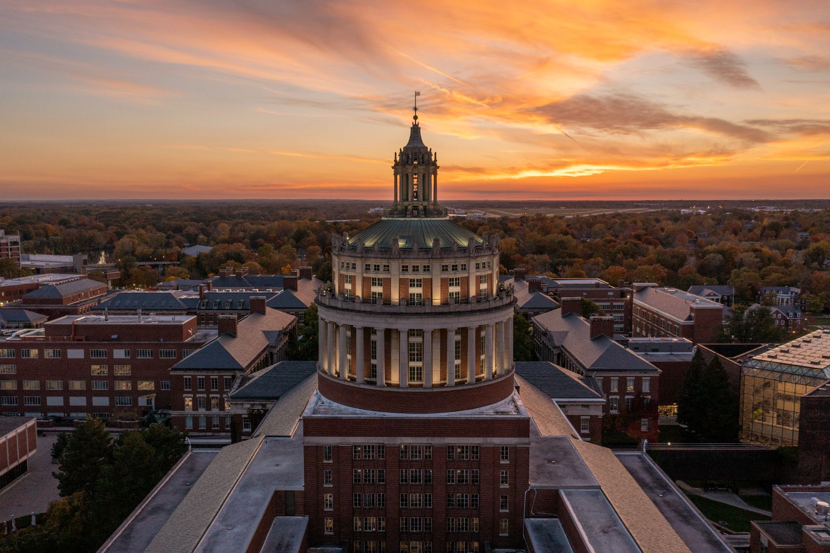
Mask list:
[[316,387],[314,374],[276,401],[251,439],[222,448],[145,553],[192,553],[266,436],[290,436]]

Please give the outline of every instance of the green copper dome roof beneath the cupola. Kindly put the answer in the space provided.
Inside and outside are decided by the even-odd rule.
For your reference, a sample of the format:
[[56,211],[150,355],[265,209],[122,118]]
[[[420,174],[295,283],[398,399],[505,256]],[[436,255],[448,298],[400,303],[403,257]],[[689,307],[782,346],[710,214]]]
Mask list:
[[476,246],[484,244],[481,236],[458,226],[448,217],[384,217],[358,234],[349,236],[349,245],[363,240],[366,248],[374,248],[375,244],[379,248],[391,248],[396,238],[401,249],[411,249],[416,244],[418,248],[432,248],[432,240],[436,238],[440,240],[442,249],[452,248],[453,245],[466,248],[470,240]]

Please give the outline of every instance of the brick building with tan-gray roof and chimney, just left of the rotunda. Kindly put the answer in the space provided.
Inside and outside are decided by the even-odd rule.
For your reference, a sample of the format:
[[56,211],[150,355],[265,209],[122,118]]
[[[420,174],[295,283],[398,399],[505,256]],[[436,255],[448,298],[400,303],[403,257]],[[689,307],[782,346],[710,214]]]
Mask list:
[[170,368],[173,428],[230,436],[228,395],[237,379],[285,359],[296,318],[266,307],[265,296],[251,296],[250,303],[245,317],[220,316],[218,337]]

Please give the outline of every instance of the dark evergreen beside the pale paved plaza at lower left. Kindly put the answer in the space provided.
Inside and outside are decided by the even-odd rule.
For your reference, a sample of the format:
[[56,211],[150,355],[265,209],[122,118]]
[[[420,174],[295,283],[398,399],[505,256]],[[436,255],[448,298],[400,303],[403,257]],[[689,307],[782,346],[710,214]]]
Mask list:
[[104,423],[87,417],[72,433],[59,460],[57,478],[62,497],[75,492],[91,492],[101,468],[110,462],[113,443]]

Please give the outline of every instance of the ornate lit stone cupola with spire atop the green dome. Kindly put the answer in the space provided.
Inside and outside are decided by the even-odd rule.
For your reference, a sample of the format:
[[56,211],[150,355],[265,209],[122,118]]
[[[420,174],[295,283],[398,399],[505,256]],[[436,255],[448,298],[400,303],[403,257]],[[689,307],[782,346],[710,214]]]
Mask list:
[[412,127],[409,128],[409,142],[395,153],[395,163],[392,166],[395,203],[389,216],[445,216],[446,210],[438,206],[438,156],[421,139],[417,104],[413,111],[415,114]]

